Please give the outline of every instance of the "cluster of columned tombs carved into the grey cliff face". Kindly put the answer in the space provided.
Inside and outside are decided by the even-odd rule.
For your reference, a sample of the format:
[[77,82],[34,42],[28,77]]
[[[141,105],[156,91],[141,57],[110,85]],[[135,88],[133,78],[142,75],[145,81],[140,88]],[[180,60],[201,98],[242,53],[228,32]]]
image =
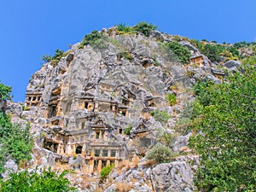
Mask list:
[[[73,96],[68,109],[63,109],[67,106],[63,104],[61,87],[52,90],[45,114],[49,131],[44,135],[42,148],[60,154],[62,163],[74,155],[84,157],[84,166],[89,172],[100,172],[104,166],[117,166],[119,161],[131,159],[136,150],[125,140],[124,133],[131,125],[131,118],[138,118],[131,107],[143,91],[134,84],[129,89],[119,86],[114,90],[111,84],[100,84],[100,97],[90,92]],[[27,93],[26,106],[40,106],[41,97],[39,93]],[[155,107],[158,101],[154,96],[143,96],[145,108]],[[142,120],[132,133],[147,131],[148,126]]]

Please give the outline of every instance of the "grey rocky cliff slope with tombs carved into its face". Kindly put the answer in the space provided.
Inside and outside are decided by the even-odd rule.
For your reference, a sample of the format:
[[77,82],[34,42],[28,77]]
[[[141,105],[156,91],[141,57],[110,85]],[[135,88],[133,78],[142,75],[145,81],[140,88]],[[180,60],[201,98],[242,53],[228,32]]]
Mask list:
[[[183,65],[162,46],[175,41],[173,36],[120,34],[116,28],[102,34],[100,44],[82,49],[74,44],[34,73],[24,111],[18,104],[9,107],[14,121],[31,123],[35,146],[29,166],[72,170],[68,177],[81,191],[195,190],[198,157],[189,153],[189,135],[180,136],[176,122],[194,99],[192,84],[198,79],[218,83],[240,62],[213,63],[181,39],[191,54],[190,64]],[[155,165],[146,157],[160,142],[178,154],[172,162]],[[112,164],[113,171],[101,181],[102,168]]]

